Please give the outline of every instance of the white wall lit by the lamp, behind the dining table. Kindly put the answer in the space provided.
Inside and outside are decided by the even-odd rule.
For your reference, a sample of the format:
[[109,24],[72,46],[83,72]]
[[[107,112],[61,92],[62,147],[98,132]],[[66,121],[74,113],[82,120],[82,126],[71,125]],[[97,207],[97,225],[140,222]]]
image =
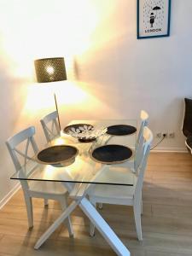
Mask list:
[[135,118],[143,108],[154,134],[176,133],[160,148],[184,149],[183,97],[192,96],[192,1],[172,0],[171,37],[145,40],[137,40],[136,2],[1,0],[0,201],[15,185],[5,140],[35,125],[38,143],[44,143],[38,120],[54,109],[50,91],[33,84],[38,57],[65,56],[68,78],[80,81],[61,84],[62,126],[70,119]]

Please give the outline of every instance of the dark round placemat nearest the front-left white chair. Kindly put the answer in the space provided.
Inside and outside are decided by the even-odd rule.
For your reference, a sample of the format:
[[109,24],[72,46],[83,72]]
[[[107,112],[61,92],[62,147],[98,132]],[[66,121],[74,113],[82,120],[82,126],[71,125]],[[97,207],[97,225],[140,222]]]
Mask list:
[[78,148],[69,145],[55,145],[38,152],[36,160],[41,164],[69,166],[78,154]]

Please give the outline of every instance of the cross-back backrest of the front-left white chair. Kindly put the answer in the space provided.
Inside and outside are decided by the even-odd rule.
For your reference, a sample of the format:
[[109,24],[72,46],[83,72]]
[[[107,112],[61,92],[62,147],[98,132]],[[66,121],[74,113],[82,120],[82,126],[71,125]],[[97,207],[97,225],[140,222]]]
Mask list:
[[[32,156],[38,153],[38,146],[33,137],[34,134],[35,127],[31,126],[15,134],[15,136],[9,137],[6,141],[16,171],[19,171],[22,166],[26,166],[28,161],[32,161],[32,163],[37,166],[37,163],[32,160]],[[20,146],[21,149],[19,149]],[[32,154],[32,156],[30,154]]]

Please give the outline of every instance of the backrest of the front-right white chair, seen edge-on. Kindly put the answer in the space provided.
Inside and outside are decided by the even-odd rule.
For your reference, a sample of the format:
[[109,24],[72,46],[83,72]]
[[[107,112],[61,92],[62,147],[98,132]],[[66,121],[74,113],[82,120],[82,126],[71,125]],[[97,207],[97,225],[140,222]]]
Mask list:
[[142,153],[140,157],[140,162],[137,167],[137,184],[135,190],[135,196],[137,197],[136,200],[141,199],[142,189],[143,189],[143,179],[144,179],[144,172],[146,170],[147,162],[148,162],[148,155],[151,148],[151,143],[153,141],[153,133],[148,129],[147,126],[143,128],[143,147]]

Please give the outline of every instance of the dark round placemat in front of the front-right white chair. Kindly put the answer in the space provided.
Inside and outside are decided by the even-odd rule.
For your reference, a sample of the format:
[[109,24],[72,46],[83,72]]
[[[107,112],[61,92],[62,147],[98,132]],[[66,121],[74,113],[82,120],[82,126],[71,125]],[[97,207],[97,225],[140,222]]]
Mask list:
[[93,160],[103,164],[119,164],[131,158],[131,148],[123,145],[104,145],[93,150],[91,157]]

